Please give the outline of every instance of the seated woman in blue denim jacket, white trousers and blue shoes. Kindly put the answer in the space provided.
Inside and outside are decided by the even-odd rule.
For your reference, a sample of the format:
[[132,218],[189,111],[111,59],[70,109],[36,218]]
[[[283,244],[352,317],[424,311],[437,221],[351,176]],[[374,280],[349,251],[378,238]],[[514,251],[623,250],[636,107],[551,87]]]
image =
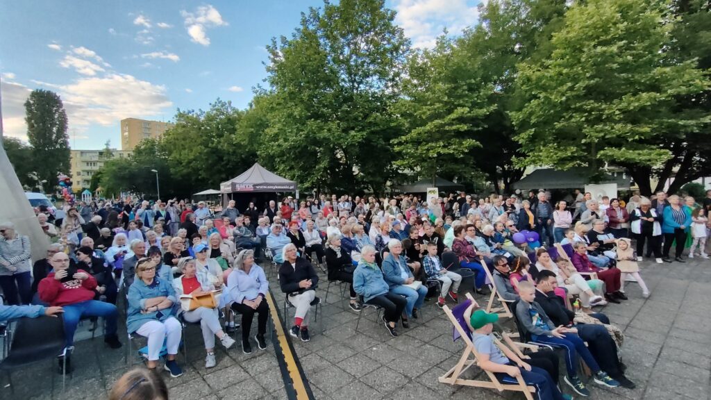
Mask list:
[[181,323],[175,317],[177,299],[169,280],[156,278],[156,263],[151,258],[141,258],[136,264],[136,277],[129,288],[126,330],[148,338],[149,369],[155,369],[166,342],[164,368],[177,378],[183,369],[176,362],[182,336]]

